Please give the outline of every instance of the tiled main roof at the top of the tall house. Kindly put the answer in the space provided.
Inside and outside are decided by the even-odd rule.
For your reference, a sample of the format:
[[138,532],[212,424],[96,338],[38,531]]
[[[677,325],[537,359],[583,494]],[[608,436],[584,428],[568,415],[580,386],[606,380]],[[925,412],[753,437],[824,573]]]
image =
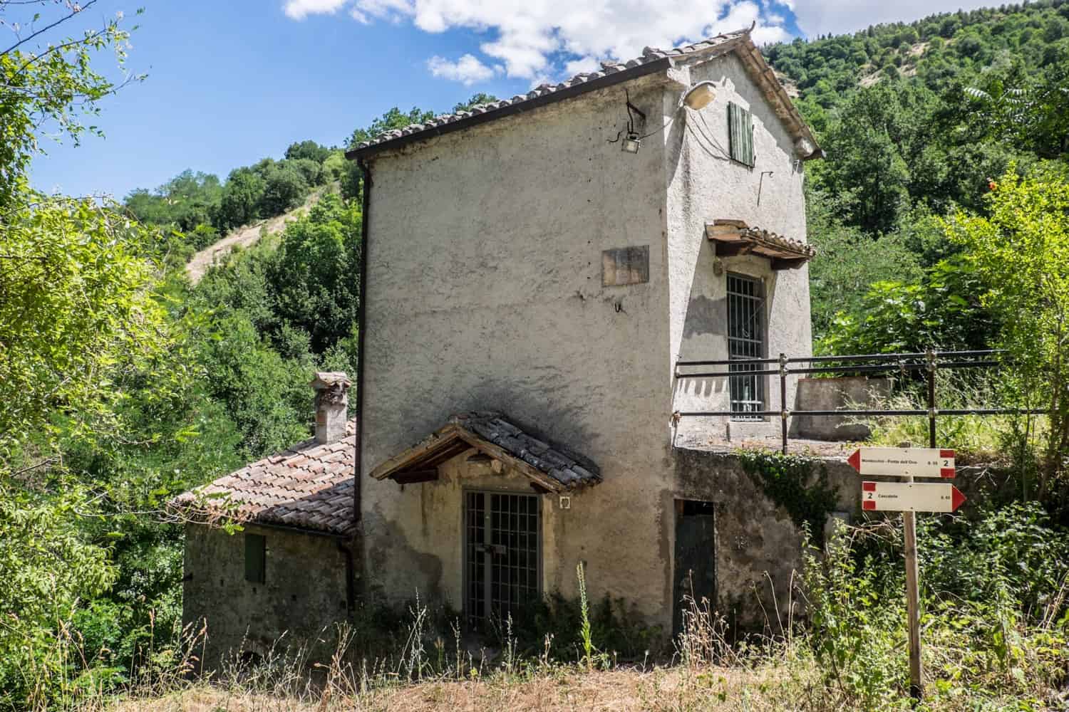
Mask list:
[[[740,49],[740,57],[747,69],[754,75],[764,89],[765,96],[776,106],[776,113],[780,116],[791,130],[796,140],[804,139],[811,145],[810,157],[818,157],[820,148],[809,131],[809,128],[802,121],[797,110],[791,104],[790,97],[775,79],[772,68],[761,58],[760,52],[749,38],[749,30],[739,30],[721,34],[693,45],[676,47],[669,50],[647,47],[642,50],[642,56],[628,62],[602,62],[602,68],[598,72],[577,74],[571,79],[559,84],[539,84],[527,94],[517,94],[511,99],[491,101],[490,104],[472,107],[470,111],[460,111],[451,114],[441,114],[431,118],[425,124],[409,124],[404,128],[384,131],[370,141],[357,144],[356,148],[346,153],[346,157],[356,158],[367,153],[373,153],[379,148],[385,148],[386,144],[393,142],[403,143],[409,140],[431,138],[449,130],[459,130],[476,123],[492,121],[501,116],[533,109],[537,106],[548,104],[549,101],[564,99],[584,91],[593,91],[604,86],[609,86],[619,81],[625,81],[656,70],[662,65],[667,65],[672,60],[690,58],[702,53],[726,53],[732,49]],[[771,77],[771,79],[770,79]]]

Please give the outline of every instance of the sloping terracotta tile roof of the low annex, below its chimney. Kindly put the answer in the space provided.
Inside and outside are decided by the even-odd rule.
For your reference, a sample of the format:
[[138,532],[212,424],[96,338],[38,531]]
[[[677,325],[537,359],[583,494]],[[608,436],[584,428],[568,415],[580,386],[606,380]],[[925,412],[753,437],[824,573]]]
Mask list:
[[327,445],[307,440],[179,495],[171,507],[203,521],[290,526],[351,536],[356,421]]

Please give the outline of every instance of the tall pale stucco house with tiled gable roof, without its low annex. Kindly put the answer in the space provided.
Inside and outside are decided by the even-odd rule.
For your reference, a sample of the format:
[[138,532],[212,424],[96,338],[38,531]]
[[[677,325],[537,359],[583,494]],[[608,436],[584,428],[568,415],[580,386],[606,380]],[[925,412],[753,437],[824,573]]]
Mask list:
[[675,367],[810,353],[820,156],[748,31],[351,151],[366,589],[419,590],[474,627],[575,596],[577,565],[666,629],[688,572],[725,606],[764,571],[786,595],[797,531],[702,452],[778,432],[752,414],[779,407],[769,377]]

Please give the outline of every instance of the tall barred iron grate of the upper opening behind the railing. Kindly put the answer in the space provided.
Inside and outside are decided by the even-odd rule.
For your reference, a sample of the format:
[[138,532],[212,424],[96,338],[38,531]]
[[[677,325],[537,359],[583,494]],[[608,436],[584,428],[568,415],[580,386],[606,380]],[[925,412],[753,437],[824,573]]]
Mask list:
[[[746,361],[764,358],[764,297],[761,282],[752,276],[728,273],[728,359]],[[761,364],[737,363],[732,373],[761,370]],[[764,378],[760,375],[728,378],[732,421],[761,421],[749,413],[764,410]]]

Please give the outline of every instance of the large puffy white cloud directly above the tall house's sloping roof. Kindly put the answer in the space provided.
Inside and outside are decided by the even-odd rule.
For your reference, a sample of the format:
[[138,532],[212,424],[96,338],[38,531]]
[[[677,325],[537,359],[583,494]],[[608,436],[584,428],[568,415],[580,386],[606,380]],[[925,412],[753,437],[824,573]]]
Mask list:
[[[801,0],[796,0],[801,1]],[[334,12],[346,0],[289,0],[290,5],[321,4]],[[739,30],[757,22],[758,44],[789,37],[784,0],[347,0],[360,22],[407,20],[424,32],[466,29],[485,33],[482,57],[428,62],[435,76],[465,83],[493,76],[501,64],[509,77],[561,77],[597,68],[604,59],[629,60],[647,46],[668,49],[680,43]],[[762,10],[762,6],[764,10]],[[292,16],[292,15],[291,15]],[[579,69],[576,69],[578,67]]]

